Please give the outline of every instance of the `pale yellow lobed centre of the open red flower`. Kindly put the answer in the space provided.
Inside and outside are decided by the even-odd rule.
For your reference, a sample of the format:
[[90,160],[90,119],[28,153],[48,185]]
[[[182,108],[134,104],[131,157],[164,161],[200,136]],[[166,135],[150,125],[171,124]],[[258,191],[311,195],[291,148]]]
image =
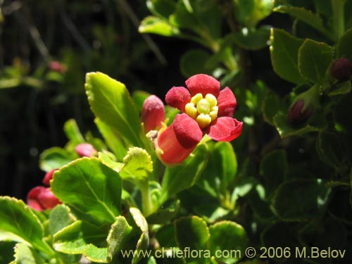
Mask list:
[[201,129],[208,127],[210,122],[218,118],[218,101],[213,94],[196,94],[186,104],[184,110],[191,118],[196,120]]

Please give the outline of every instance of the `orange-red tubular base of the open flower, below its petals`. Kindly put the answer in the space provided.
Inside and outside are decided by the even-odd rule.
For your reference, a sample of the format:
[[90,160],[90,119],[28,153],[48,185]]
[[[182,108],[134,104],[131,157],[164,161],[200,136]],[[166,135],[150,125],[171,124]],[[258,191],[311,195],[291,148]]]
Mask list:
[[168,165],[182,163],[189,154],[194,150],[194,147],[189,149],[184,149],[180,142],[177,140],[175,131],[170,125],[163,132],[159,133],[157,144],[156,144],[156,154],[158,158],[163,161],[163,163]]

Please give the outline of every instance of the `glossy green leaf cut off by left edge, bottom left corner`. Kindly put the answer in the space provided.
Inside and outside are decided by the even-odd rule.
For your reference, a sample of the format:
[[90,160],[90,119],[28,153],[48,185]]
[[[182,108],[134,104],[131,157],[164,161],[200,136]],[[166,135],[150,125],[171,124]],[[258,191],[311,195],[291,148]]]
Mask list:
[[32,245],[49,255],[53,253],[49,245],[42,240],[42,223],[23,201],[0,196],[0,219],[0,241],[18,241]]

